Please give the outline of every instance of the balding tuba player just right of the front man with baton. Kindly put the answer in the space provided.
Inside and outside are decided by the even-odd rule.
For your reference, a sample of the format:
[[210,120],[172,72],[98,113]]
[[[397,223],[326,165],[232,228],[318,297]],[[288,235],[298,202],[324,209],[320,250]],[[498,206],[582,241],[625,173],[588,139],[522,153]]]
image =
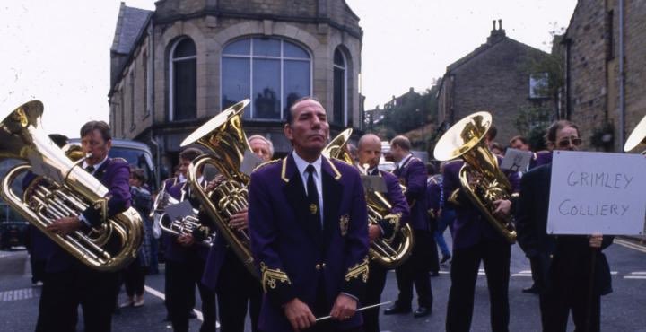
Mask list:
[[[359,167],[368,166],[366,175],[378,176],[384,179],[387,192],[384,197],[388,199],[391,205],[390,212],[384,219],[378,221],[378,224],[368,226],[368,236],[370,240],[393,239],[397,236],[398,229],[404,225],[408,218],[408,203],[406,197],[402,194],[401,186],[397,177],[388,171],[379,170],[381,157],[381,140],[377,135],[362,135],[357,144],[357,154],[359,157]],[[365,305],[380,303],[381,292],[386,285],[386,275],[388,269],[381,266],[379,262],[371,261],[370,275],[368,276],[368,286],[366,290]],[[380,308],[373,308],[363,311],[363,330],[365,332],[379,332],[379,312]]]

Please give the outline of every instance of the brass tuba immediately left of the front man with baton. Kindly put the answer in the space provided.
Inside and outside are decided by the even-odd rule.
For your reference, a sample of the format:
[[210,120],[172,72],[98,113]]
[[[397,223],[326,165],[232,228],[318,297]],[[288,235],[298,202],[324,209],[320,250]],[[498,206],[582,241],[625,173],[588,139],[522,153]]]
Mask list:
[[[208,149],[209,153],[197,157],[188,166],[188,183],[215,223],[219,235],[227,241],[249,273],[259,279],[258,269],[251,256],[249,233],[246,230],[234,230],[229,226],[231,215],[246,210],[249,205],[247,201],[249,176],[240,171],[245,151],[251,151],[247,135],[242,130],[241,119],[242,110],[248,104],[249,100],[242,100],[224,109],[188,135],[180,145],[200,144]],[[208,193],[197,180],[197,170],[203,169],[205,164],[213,165],[222,176],[222,181]]]

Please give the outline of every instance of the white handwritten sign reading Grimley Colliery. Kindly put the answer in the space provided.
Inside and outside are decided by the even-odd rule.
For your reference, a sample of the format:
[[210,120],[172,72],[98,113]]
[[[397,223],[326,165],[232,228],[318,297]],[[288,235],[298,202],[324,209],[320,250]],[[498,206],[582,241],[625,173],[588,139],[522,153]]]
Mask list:
[[644,170],[640,154],[554,151],[547,233],[642,234]]

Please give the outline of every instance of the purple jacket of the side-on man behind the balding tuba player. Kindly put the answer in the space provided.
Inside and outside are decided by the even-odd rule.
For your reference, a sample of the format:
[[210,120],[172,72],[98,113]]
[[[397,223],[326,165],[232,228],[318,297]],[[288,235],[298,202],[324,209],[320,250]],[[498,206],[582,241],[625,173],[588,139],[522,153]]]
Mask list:
[[410,206],[408,223],[414,230],[430,231],[428,208],[426,207],[426,166],[422,161],[411,156],[393,174],[406,186],[406,201]]

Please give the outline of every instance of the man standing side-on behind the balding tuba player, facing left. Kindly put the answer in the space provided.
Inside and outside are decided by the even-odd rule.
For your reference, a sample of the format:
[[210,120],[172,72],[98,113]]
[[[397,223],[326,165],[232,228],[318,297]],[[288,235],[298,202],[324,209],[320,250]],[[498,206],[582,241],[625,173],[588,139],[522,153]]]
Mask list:
[[431,223],[426,206],[426,165],[410,153],[411,144],[405,136],[397,136],[390,142],[390,153],[397,168],[393,174],[406,186],[406,201],[410,206],[408,223],[413,228],[413,253],[411,257],[396,269],[397,286],[399,295],[395,305],[384,313],[407,313],[411,311],[413,301],[413,284],[417,291],[419,307],[414,312],[414,317],[423,317],[431,314],[431,259],[432,250],[435,249],[435,240],[431,232]]

